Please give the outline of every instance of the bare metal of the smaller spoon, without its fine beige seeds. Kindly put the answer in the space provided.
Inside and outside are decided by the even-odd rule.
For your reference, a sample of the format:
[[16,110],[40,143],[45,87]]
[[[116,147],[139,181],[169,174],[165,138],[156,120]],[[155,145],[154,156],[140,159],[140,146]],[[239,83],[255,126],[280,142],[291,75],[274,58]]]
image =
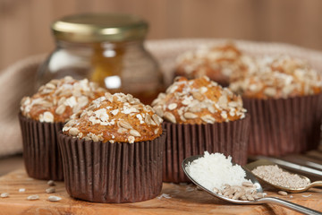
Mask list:
[[[252,171],[253,169],[258,168],[259,166],[267,166],[267,165],[277,165],[277,164],[275,164],[274,162],[271,162],[271,161],[269,161],[267,159],[258,159],[255,162],[251,162],[250,164],[247,164],[245,166],[245,168],[247,168],[248,170]],[[281,168],[281,167],[278,166],[278,168]],[[284,168],[282,168],[282,169],[285,172],[288,172]],[[260,176],[257,176],[257,175],[254,175],[254,176],[256,176],[259,180],[262,180],[263,182],[267,183],[268,185],[272,185],[277,189],[284,190],[287,193],[301,193],[301,192],[309,190],[309,188],[311,188],[311,187],[322,186],[322,181],[315,181],[315,182],[311,183],[307,176],[302,176],[302,175],[299,175],[299,174],[296,174],[296,175],[298,175],[301,178],[305,179],[308,182],[308,185],[306,185],[304,187],[300,187],[300,188],[285,187],[285,186],[281,186],[281,185],[272,184],[272,183],[268,182],[267,180],[265,180],[264,178],[261,178]]]

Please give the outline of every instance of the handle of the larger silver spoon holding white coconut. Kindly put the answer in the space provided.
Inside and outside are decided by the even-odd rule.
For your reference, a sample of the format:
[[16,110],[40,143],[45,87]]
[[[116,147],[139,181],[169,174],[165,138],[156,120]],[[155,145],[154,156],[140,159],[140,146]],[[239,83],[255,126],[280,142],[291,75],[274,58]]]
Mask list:
[[307,207],[301,206],[300,204],[296,204],[293,202],[287,202],[283,199],[275,198],[275,197],[266,197],[259,199],[258,202],[263,202],[263,203],[275,203],[280,206],[283,206],[285,208],[291,209],[293,211],[298,211],[303,214],[312,214],[312,215],[321,215],[322,212],[315,211],[313,209],[309,209]]

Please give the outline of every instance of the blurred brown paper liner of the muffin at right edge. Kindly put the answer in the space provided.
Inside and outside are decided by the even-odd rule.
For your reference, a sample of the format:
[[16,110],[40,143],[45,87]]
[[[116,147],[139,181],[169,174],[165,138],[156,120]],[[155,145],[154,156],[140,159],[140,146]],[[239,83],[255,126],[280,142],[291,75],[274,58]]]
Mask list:
[[282,156],[317,149],[322,94],[289,99],[246,99],[250,119],[249,153]]

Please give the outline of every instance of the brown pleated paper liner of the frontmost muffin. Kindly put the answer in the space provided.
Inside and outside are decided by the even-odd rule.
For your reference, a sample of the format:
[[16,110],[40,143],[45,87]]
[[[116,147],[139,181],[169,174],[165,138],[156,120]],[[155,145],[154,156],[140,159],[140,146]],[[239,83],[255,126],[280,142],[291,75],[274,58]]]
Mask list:
[[93,142],[59,134],[64,183],[89,202],[140,202],[162,189],[165,132],[147,142]]

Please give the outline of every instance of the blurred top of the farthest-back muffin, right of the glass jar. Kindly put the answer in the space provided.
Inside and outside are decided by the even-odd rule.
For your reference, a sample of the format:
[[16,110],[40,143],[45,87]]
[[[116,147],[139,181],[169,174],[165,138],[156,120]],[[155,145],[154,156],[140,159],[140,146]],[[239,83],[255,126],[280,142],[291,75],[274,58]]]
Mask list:
[[242,53],[233,43],[220,46],[201,46],[178,56],[174,76],[188,79],[207,75],[222,86],[254,69],[253,58]]

